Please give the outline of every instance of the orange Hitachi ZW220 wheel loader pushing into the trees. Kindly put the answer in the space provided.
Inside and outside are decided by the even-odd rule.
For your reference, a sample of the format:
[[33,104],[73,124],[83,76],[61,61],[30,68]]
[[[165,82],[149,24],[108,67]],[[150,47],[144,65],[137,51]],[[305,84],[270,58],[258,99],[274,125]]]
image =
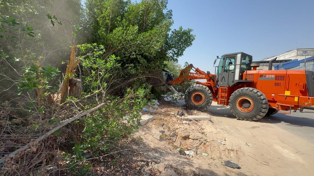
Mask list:
[[[308,70],[257,69],[252,56],[243,52],[224,54],[214,60],[215,74],[192,64],[181,70],[179,77],[164,70],[167,84],[195,82],[185,93],[188,108],[205,111],[212,101],[229,106],[234,116],[254,121],[277,112],[291,113],[314,105],[314,73]],[[191,70],[193,72],[191,72]],[[197,80],[206,80],[205,82]]]

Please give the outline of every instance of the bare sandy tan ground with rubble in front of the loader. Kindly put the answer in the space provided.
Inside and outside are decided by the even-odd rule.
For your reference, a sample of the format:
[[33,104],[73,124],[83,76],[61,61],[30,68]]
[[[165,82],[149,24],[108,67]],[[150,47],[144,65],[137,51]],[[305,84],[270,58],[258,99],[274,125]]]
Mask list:
[[[206,115],[211,121],[183,123],[177,116],[182,109],[168,101],[160,101],[155,110],[150,113],[154,121],[141,126],[135,135],[151,148],[144,155],[154,161],[149,167],[158,171],[156,175],[310,176],[314,173],[314,144],[275,125],[190,110],[185,110],[185,115]],[[222,108],[221,113],[224,111]],[[158,140],[160,130],[165,132],[162,131]],[[197,153],[192,157],[180,155],[181,150]],[[241,169],[225,166],[227,160]]]

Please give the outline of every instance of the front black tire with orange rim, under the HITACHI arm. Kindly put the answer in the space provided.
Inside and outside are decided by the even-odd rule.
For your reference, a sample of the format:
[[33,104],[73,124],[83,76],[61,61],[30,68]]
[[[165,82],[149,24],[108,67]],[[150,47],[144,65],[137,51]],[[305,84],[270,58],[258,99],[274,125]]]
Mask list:
[[194,84],[185,92],[184,101],[190,109],[205,111],[212,104],[213,95],[205,85]]

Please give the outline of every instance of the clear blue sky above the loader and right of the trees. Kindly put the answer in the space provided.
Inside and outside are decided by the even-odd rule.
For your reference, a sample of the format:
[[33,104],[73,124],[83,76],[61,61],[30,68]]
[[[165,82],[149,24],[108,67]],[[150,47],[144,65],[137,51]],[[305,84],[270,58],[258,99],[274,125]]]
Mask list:
[[179,64],[214,73],[216,55],[245,52],[253,61],[314,48],[311,0],[169,0],[172,28],[192,28],[196,39]]

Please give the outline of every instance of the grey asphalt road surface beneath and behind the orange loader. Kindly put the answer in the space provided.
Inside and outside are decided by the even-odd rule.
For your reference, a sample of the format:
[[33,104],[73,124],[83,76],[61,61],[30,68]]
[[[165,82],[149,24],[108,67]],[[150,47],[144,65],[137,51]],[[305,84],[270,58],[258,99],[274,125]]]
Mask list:
[[[229,106],[220,106],[213,102],[208,109],[214,116],[227,118],[236,117],[231,113]],[[303,112],[291,112],[291,114],[276,113],[265,116],[255,121],[256,123],[271,123],[307,141],[314,143],[314,110],[304,109]]]

